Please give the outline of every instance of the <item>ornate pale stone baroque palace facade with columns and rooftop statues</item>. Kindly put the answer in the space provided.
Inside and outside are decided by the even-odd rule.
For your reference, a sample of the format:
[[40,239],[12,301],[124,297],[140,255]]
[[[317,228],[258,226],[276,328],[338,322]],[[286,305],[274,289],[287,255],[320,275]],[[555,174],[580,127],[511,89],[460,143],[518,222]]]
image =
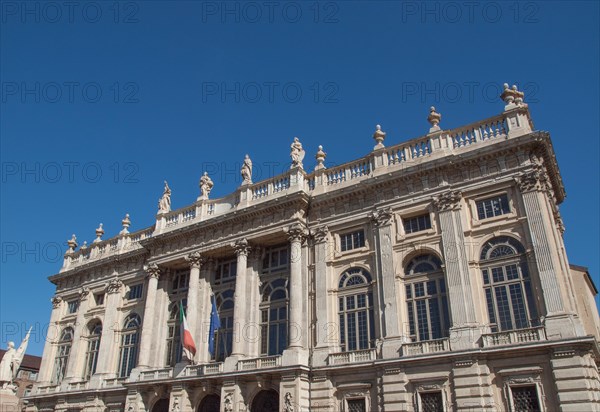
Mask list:
[[[77,249],[28,411],[600,411],[597,293],[523,94],[504,111],[171,210]],[[211,308],[221,327],[208,351]],[[180,309],[183,308],[183,309]],[[197,353],[182,357],[179,311]]]

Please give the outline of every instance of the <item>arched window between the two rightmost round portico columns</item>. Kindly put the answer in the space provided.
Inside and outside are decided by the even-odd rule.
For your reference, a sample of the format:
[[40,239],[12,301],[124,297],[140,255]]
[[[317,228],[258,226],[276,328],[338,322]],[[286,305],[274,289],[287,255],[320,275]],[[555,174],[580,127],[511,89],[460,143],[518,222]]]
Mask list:
[[263,355],[281,355],[287,348],[288,284],[279,278],[261,290],[261,345]]

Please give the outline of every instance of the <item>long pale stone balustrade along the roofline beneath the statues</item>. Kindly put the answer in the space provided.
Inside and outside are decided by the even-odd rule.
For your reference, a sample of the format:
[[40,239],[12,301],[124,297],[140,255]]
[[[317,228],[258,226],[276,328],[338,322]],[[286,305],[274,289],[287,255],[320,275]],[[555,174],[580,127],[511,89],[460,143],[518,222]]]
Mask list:
[[292,168],[269,179],[241,185],[235,192],[218,199],[198,199],[191,206],[157,215],[155,226],[135,233],[93,243],[65,255],[61,269],[66,271],[90,261],[141,248],[139,242],[171,230],[198,224],[232,210],[242,210],[294,192],[320,193],[342,189],[384,173],[397,170],[398,165],[409,168],[422,165],[428,159],[469,151],[472,146],[493,144],[495,141],[518,137],[532,131],[533,125],[526,107],[506,111],[466,126],[439,130],[390,147],[376,148],[369,155],[339,166],[322,167],[312,173]]

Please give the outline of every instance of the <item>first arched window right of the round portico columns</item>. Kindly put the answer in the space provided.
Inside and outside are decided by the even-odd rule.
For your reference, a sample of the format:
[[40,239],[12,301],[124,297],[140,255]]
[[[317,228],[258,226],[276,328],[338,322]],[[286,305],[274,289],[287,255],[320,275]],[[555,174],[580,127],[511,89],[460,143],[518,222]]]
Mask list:
[[342,351],[367,349],[375,343],[373,291],[371,275],[364,269],[352,268],[340,276],[338,314]]

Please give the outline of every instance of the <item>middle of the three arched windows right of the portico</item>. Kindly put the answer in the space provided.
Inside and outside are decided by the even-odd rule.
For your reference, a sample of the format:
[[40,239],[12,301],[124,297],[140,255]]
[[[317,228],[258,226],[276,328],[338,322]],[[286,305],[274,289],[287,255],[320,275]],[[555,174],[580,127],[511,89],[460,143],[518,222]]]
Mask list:
[[419,255],[408,262],[404,273],[411,340],[447,337],[450,315],[442,261],[432,254]]

